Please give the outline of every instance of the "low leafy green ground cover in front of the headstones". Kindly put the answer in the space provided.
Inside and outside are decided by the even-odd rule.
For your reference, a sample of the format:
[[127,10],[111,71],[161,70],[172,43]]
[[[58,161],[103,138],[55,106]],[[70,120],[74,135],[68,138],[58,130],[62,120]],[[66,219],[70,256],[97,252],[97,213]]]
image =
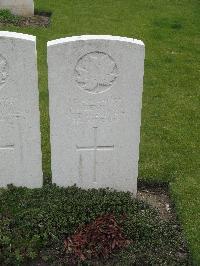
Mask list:
[[2,265],[190,264],[177,221],[130,193],[10,186],[0,215]]

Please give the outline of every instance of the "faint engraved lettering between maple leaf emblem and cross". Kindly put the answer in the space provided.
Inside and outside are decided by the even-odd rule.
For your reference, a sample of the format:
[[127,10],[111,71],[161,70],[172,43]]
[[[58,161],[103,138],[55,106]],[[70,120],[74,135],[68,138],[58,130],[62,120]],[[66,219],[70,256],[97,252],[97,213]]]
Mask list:
[[[120,120],[125,114],[123,100],[120,97],[106,97],[96,101],[80,101],[77,98],[69,100],[67,115],[72,117],[74,123],[85,122],[112,122]],[[70,107],[71,106],[71,107]]]

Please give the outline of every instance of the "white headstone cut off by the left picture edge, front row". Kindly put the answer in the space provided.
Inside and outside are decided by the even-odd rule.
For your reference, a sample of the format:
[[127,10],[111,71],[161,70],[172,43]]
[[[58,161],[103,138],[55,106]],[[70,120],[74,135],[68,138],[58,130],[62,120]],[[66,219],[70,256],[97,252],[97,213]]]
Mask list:
[[42,186],[36,38],[0,32],[0,186]]

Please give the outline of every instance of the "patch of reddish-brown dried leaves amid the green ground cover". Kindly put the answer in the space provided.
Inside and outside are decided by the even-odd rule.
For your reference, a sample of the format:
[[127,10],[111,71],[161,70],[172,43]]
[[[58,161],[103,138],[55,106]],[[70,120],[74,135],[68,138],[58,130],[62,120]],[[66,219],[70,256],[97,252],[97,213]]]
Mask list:
[[66,251],[82,261],[90,258],[106,258],[115,249],[129,244],[130,241],[123,236],[122,229],[111,214],[98,217],[64,240]]

